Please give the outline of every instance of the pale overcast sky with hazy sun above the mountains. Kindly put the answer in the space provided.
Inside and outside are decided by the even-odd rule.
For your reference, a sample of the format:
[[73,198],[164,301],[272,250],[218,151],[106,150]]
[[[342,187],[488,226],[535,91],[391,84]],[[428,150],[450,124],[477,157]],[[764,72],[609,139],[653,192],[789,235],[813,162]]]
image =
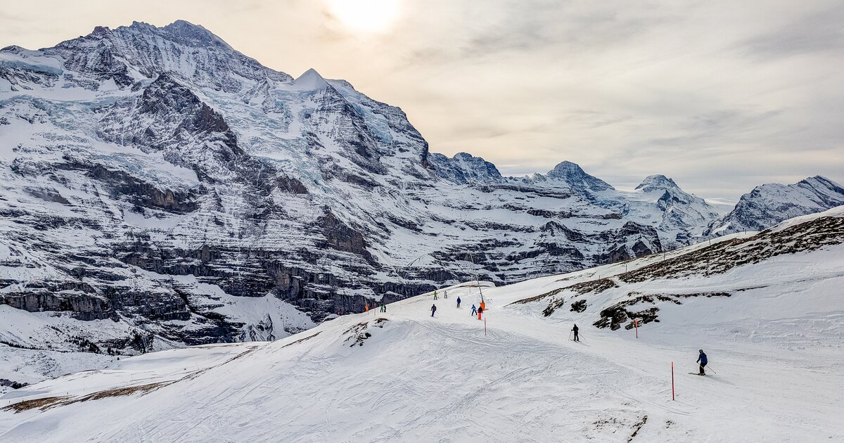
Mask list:
[[406,111],[432,151],[505,175],[567,159],[619,188],[664,174],[728,199],[806,176],[844,184],[841,0],[0,6],[0,46],[30,49],[95,25],[202,24],[270,68],[349,80]]

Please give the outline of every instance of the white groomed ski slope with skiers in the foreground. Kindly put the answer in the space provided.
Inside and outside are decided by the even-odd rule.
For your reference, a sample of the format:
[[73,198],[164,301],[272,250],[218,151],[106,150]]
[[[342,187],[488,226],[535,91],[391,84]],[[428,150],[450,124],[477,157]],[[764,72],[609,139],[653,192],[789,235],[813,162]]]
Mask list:
[[[841,441],[840,240],[726,272],[627,281],[719,242],[792,245],[771,235],[808,238],[811,223],[840,226],[841,217],[837,208],[747,238],[510,286],[469,282],[448,288],[447,300],[422,294],[275,342],[122,359],[0,397],[0,440]],[[595,278],[618,286],[571,289]],[[485,321],[469,313],[479,289]],[[690,295],[701,291],[730,295]],[[631,293],[686,296],[655,302],[658,321],[641,325],[639,338],[592,326]],[[545,316],[559,297],[587,307]],[[573,323],[580,343],[569,339]],[[706,377],[689,374],[699,348]]]

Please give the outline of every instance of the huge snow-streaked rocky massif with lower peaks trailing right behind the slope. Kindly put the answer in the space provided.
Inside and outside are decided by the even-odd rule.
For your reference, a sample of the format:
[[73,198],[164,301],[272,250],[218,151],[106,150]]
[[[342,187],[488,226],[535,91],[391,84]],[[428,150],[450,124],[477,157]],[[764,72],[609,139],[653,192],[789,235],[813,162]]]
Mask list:
[[399,108],[180,20],[0,50],[0,215],[3,315],[58,334],[3,341],[131,354],[641,257],[719,214],[663,176],[430,153]]

